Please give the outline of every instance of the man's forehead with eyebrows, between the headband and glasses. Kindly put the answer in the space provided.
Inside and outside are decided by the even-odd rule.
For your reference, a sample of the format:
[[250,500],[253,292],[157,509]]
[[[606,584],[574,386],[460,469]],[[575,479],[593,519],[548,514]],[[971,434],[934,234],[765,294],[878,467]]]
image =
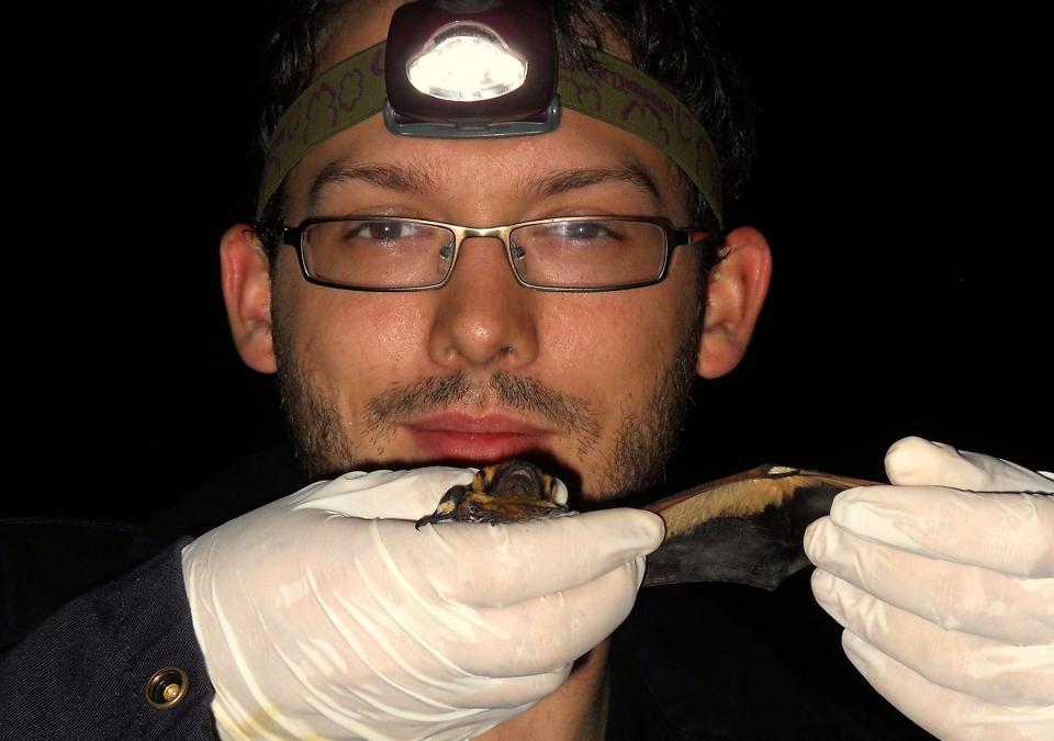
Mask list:
[[442,197],[474,188],[520,201],[565,193],[632,200],[635,213],[679,218],[676,166],[639,138],[569,111],[543,137],[450,141],[392,136],[374,117],[319,145],[294,169],[296,211],[317,215],[330,193],[355,187]]

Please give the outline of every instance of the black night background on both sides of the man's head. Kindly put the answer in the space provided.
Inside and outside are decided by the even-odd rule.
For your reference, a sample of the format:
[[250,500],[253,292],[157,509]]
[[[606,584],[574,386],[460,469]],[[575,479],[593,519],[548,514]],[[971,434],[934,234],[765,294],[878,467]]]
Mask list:
[[[697,390],[675,480],[879,478],[908,434],[1051,468],[1041,24],[781,5],[736,3],[727,29],[760,109],[738,221],[767,235],[773,287],[741,368]],[[143,518],[282,435],[216,257],[251,213],[268,9],[9,30],[4,513]]]

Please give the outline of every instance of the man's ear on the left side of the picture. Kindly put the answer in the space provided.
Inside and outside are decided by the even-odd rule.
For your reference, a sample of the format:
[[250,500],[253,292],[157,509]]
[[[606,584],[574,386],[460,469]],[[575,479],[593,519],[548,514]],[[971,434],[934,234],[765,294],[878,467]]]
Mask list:
[[220,239],[223,301],[234,346],[253,370],[273,373],[271,278],[264,245],[248,224],[235,224]]

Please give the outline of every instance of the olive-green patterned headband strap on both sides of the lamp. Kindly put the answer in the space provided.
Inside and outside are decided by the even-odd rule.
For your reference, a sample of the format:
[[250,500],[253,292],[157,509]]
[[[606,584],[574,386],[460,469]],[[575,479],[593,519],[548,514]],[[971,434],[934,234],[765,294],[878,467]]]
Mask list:
[[[631,65],[591,50],[594,69],[559,71],[563,108],[624,128],[665,153],[721,220],[721,169],[703,124],[677,98]],[[322,142],[379,113],[384,42],[330,67],[282,114],[267,144],[257,218],[300,159]]]

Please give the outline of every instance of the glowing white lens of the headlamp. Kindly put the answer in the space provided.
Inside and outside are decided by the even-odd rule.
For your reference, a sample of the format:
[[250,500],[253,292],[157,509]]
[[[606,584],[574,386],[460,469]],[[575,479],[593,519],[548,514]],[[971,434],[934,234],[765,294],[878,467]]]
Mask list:
[[406,65],[415,89],[451,101],[500,98],[523,86],[527,60],[487,29],[458,23],[440,30]]

